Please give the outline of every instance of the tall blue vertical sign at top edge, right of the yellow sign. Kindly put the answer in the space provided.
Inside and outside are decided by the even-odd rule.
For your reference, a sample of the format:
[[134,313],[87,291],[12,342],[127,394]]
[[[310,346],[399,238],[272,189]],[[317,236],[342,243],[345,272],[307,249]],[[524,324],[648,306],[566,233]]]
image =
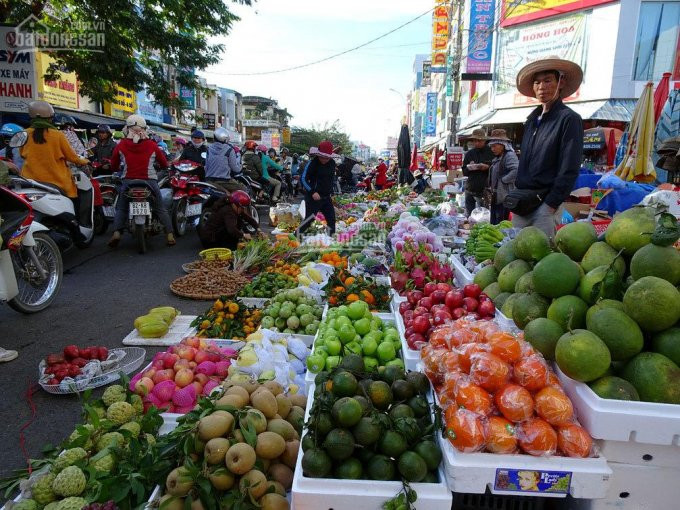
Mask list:
[[494,0],[470,2],[467,72],[488,73],[491,71],[495,3]]

